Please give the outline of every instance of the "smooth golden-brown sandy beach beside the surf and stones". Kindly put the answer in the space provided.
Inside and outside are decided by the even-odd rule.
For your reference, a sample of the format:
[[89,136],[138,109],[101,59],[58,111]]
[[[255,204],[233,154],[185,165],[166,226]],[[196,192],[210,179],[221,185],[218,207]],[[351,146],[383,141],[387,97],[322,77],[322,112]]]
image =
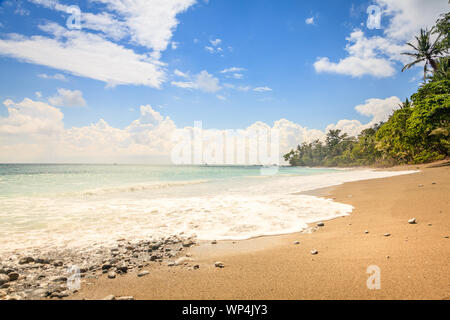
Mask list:
[[[350,216],[309,232],[199,243],[185,265],[84,279],[68,299],[450,299],[450,167],[389,170],[398,169],[420,172],[314,191],[354,206]],[[380,289],[367,287],[369,266],[379,267]]]

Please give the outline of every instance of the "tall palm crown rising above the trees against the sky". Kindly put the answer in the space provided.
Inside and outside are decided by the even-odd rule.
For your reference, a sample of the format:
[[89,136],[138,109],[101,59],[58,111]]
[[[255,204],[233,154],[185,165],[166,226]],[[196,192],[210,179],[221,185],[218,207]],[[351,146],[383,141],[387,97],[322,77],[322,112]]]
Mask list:
[[442,54],[442,47],[438,45],[439,38],[441,35],[437,37],[437,39],[431,43],[431,33],[433,32],[433,28],[431,30],[428,29],[420,29],[420,36],[416,36],[417,44],[413,45],[411,43],[406,43],[410,47],[412,47],[415,52],[403,52],[402,54],[411,56],[415,60],[411,63],[405,65],[402,69],[402,72],[406,69],[411,68],[419,62],[425,62],[423,67],[423,79],[425,81],[428,72],[428,65],[430,65],[434,71],[437,69],[436,59]]

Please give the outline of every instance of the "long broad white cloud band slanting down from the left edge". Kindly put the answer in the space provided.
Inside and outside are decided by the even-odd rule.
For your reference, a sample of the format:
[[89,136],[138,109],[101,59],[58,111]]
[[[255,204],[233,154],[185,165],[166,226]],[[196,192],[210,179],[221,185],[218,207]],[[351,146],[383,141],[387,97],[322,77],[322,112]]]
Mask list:
[[41,27],[54,38],[14,36],[0,39],[0,54],[106,82],[159,88],[165,80],[159,63],[145,54],[99,35],[67,30],[56,24]]

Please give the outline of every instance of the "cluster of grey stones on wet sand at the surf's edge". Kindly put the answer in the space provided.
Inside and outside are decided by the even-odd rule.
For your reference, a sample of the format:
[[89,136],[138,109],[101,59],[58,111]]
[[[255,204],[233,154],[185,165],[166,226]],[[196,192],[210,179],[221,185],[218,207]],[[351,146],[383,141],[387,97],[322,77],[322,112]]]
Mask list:
[[64,298],[77,292],[73,280],[83,285],[105,273],[109,278],[129,272],[142,277],[149,273],[143,268],[153,264],[187,265],[189,259],[179,256],[194,244],[195,238],[182,236],[133,243],[119,239],[114,247],[83,252],[34,250],[8,255],[0,259],[0,300]]

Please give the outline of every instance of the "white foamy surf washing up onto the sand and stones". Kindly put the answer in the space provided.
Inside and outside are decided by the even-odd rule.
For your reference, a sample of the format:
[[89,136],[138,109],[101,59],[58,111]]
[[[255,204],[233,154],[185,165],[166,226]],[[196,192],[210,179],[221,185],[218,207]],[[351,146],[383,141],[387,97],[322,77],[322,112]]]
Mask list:
[[[199,240],[242,240],[304,230],[309,223],[352,212],[352,206],[294,193],[345,182],[417,171],[340,170],[311,176],[253,179],[242,186],[196,195],[150,198],[153,187],[88,192],[89,197],[12,197],[0,199],[0,252],[42,248],[113,245],[183,233]],[[180,183],[186,188],[199,181]],[[204,182],[206,183],[206,182]],[[200,184],[204,184],[203,182]],[[180,187],[165,184],[165,189]],[[160,189],[158,187],[158,189]],[[191,190],[191,189],[189,189]],[[195,190],[195,189],[192,189]]]

